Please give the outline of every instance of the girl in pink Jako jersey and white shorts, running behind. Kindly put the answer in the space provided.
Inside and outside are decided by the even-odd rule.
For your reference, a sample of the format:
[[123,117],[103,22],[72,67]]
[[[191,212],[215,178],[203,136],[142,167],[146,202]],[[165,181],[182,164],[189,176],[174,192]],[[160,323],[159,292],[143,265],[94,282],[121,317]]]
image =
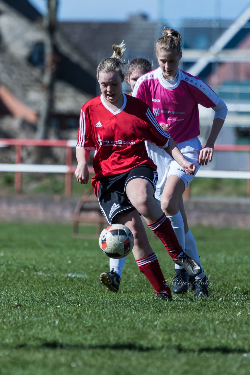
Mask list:
[[[199,166],[212,161],[214,143],[225,121],[227,107],[199,77],[193,77],[178,68],[182,51],[181,35],[177,31],[164,28],[163,36],[156,42],[156,55],[160,67],[142,76],[132,95],[147,103],[157,121],[168,126],[169,134],[186,159],[196,165],[197,172]],[[198,139],[198,104],[215,111],[211,132],[204,148]],[[196,172],[192,176],[185,176],[175,160],[166,157],[155,144],[146,143],[148,155],[156,163],[159,174],[155,196],[160,199],[163,211],[171,220],[181,246],[197,261],[199,255],[187,225],[182,198]],[[188,290],[188,278],[186,271],[176,265],[174,293],[185,293]],[[195,285],[195,297],[208,296],[208,279],[203,270],[196,276]]]

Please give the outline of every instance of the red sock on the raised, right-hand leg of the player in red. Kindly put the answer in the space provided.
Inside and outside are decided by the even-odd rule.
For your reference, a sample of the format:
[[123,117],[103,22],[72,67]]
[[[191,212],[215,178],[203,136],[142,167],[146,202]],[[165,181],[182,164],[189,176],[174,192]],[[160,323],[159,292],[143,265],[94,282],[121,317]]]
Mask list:
[[172,259],[177,259],[183,249],[175,236],[171,222],[165,213],[156,221],[149,224],[148,227],[156,234],[165,246]]

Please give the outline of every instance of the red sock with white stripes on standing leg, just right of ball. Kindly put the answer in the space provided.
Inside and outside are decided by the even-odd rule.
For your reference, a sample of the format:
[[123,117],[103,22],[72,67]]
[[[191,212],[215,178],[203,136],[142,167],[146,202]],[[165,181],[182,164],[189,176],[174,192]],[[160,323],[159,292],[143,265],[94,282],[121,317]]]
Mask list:
[[138,259],[136,263],[139,266],[140,272],[142,272],[151,285],[153,285],[156,294],[158,294],[161,290],[168,292],[169,297],[172,297],[170,288],[166,283],[162,270],[160,269],[160,264],[154,253],[148,255],[147,257]]

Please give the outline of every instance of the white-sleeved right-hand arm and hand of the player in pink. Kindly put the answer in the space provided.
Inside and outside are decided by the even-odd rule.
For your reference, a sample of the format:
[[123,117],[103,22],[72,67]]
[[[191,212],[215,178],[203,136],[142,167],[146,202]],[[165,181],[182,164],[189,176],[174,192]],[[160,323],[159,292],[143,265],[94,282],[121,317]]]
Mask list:
[[207,165],[208,161],[212,161],[214,144],[220,133],[220,130],[222,129],[226,115],[228,113],[228,108],[222,99],[220,99],[219,103],[215,107],[213,107],[213,110],[215,111],[215,114],[211,132],[205,147],[202,148],[199,154],[199,164],[201,165]]

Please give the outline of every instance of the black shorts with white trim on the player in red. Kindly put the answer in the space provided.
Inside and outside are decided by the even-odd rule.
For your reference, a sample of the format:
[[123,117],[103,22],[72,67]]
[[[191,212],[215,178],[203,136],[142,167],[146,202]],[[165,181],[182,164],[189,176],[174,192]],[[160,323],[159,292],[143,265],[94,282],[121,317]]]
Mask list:
[[133,178],[150,181],[155,191],[158,174],[155,169],[147,165],[139,165],[129,172],[101,179],[97,197],[102,213],[109,224],[115,223],[115,215],[135,210],[126,194],[127,183]]

